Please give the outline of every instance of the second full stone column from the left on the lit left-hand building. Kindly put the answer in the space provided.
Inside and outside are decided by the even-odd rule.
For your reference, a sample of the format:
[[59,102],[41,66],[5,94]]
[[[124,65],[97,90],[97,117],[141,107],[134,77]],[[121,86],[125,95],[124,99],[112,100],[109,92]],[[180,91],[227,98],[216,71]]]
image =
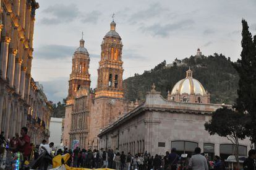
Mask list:
[[14,87],[15,56],[18,50],[12,49],[11,52],[12,53],[9,54],[7,77],[9,79],[9,85]]

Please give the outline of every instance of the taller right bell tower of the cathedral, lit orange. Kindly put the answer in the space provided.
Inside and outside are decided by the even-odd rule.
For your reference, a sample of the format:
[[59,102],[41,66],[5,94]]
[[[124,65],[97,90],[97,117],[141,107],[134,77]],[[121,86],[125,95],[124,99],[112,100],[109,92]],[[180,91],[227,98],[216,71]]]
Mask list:
[[114,20],[101,43],[101,60],[95,97],[123,98],[122,89],[122,41],[116,32]]

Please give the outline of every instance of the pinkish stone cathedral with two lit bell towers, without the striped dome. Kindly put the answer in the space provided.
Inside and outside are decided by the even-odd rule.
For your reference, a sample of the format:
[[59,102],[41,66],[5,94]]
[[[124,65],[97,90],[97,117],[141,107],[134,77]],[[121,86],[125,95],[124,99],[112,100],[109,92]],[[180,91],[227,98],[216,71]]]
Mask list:
[[109,124],[139,104],[124,100],[122,88],[122,39],[116,32],[114,20],[101,43],[101,59],[95,91],[90,88],[90,57],[85,41],[72,58],[72,72],[64,119],[64,146],[79,140],[81,148],[98,148],[97,135]]

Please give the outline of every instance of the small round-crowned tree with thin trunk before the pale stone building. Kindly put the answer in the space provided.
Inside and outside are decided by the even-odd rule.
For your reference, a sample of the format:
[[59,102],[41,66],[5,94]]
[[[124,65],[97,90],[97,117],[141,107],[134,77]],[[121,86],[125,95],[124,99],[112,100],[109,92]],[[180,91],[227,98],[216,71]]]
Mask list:
[[243,140],[247,135],[245,117],[245,114],[224,107],[213,112],[210,122],[205,123],[205,130],[210,135],[217,134],[221,137],[227,137],[233,143],[237,166],[239,166],[239,139]]

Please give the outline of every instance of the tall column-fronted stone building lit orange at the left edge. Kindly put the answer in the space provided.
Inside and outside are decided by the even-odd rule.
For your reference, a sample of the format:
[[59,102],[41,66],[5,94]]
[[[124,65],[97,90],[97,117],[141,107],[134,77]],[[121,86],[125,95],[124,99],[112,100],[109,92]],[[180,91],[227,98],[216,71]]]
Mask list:
[[[20,132],[20,128],[27,125],[27,119],[30,124],[38,117],[37,123],[32,122],[33,126],[38,126],[46,136],[48,133],[45,129],[50,113],[49,103],[46,98],[39,98],[43,93],[31,77],[33,30],[38,7],[35,0],[0,2],[0,130],[4,131],[6,138]],[[29,133],[32,136],[33,133],[38,134],[31,130]],[[32,142],[35,140],[32,137]]]

